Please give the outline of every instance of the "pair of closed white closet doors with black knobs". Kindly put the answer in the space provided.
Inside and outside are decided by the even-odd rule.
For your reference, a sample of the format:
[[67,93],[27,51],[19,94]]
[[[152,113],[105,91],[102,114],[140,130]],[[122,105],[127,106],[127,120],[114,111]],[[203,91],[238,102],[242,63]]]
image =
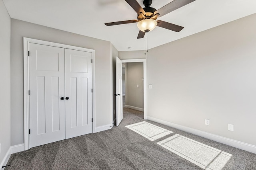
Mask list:
[[92,53],[28,48],[30,148],[92,133]]

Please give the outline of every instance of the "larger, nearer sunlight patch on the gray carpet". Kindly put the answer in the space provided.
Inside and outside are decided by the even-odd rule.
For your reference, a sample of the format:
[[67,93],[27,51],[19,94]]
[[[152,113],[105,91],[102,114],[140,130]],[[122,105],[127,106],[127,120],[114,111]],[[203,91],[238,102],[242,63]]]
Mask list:
[[157,143],[206,170],[222,170],[232,154],[175,134]]

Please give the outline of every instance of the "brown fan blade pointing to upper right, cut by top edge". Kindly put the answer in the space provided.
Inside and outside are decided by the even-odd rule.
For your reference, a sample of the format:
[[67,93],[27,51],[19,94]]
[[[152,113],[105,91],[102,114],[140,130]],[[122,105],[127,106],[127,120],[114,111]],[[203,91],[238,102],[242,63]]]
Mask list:
[[159,13],[158,17],[161,17],[161,16],[164,16],[165,14],[168,14],[169,12],[177,10],[178,8],[185,6],[186,4],[189,4],[193,1],[195,1],[195,0],[174,0],[174,1],[170,2],[169,4],[167,4],[166,6],[163,6],[162,8],[160,8],[159,10],[154,12],[154,14]]

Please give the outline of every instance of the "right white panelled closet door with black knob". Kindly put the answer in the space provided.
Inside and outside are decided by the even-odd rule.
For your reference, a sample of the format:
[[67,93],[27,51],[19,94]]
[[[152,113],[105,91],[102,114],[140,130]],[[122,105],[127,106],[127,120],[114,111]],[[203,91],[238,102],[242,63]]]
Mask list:
[[66,139],[92,133],[92,53],[65,49]]

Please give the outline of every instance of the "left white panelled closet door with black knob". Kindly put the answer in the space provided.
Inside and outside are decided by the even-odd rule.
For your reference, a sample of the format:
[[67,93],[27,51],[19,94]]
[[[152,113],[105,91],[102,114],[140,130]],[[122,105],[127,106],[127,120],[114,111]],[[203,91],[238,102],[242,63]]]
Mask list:
[[30,147],[65,139],[64,49],[29,44]]

